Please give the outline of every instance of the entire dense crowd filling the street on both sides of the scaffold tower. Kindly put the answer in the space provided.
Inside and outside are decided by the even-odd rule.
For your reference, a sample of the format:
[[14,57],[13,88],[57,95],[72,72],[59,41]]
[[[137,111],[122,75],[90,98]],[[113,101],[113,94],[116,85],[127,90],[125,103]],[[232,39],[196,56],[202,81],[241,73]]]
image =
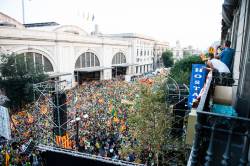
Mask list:
[[[138,144],[136,137],[129,133],[127,117],[129,112],[138,109],[135,103],[140,99],[139,83],[92,81],[83,82],[82,85],[68,90],[67,134],[73,143],[68,148],[130,162],[141,163],[147,160],[145,156],[150,155],[136,156],[133,151],[123,151],[124,148],[133,149]],[[39,99],[39,105],[28,104],[22,111],[11,116],[12,138],[20,146],[31,138],[41,144],[58,146],[53,135],[53,104],[50,99],[51,94],[47,94]],[[78,139],[74,121],[76,118],[80,119]],[[11,144],[4,147],[8,151],[10,162],[30,163],[32,154],[37,153],[32,152],[29,156],[22,157],[11,150]],[[6,155],[1,155],[2,158],[3,156]]]

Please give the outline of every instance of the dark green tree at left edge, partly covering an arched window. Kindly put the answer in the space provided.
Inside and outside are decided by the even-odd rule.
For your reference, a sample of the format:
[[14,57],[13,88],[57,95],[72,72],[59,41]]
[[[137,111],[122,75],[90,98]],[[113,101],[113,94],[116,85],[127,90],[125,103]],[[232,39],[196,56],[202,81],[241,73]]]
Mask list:
[[[20,109],[33,101],[33,84],[47,79],[41,67],[26,64],[23,56],[0,55],[0,87],[9,98],[7,105]],[[28,67],[27,67],[28,66]]]

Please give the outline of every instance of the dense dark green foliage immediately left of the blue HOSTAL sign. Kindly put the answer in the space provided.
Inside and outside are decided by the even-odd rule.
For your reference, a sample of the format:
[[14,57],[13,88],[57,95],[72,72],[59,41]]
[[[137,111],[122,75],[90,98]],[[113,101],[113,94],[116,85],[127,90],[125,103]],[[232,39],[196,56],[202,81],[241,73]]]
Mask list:
[[175,62],[170,75],[177,83],[189,85],[192,64],[203,64],[199,56],[188,56]]

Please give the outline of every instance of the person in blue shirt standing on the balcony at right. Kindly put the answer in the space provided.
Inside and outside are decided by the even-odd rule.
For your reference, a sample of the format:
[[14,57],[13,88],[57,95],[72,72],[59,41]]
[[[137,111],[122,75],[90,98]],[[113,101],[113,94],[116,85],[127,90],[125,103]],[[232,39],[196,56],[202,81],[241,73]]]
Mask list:
[[232,62],[233,62],[235,50],[230,48],[230,46],[231,46],[231,42],[227,40],[224,45],[225,47],[224,50],[221,52],[221,54],[216,56],[216,58],[219,58],[224,64],[227,65],[229,69],[232,69]]

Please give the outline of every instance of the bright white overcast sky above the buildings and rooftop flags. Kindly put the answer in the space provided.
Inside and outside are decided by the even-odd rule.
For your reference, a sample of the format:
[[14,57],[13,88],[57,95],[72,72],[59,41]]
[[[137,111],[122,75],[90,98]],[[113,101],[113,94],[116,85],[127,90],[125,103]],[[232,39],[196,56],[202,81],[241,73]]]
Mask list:
[[[25,23],[98,24],[107,34],[139,33],[175,46],[206,49],[220,39],[223,0],[24,0]],[[22,0],[0,0],[0,12],[22,22]],[[94,15],[94,20],[92,21]],[[88,19],[89,18],[89,19]]]

